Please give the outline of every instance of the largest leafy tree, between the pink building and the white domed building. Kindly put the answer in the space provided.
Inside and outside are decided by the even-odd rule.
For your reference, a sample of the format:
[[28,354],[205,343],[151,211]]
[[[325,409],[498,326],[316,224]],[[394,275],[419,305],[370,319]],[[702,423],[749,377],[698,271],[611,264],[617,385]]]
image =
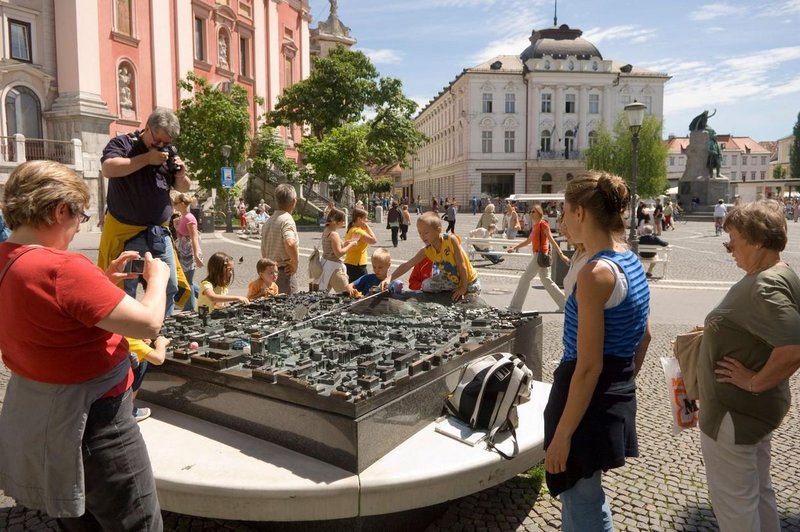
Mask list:
[[[425,137],[412,119],[416,109],[399,80],[381,78],[362,52],[337,46],[313,59],[311,75],[284,91],[267,122],[307,125],[311,134],[300,151],[316,179],[336,176],[357,188],[368,166],[406,160],[422,145]],[[337,156],[338,150],[353,158]]]

